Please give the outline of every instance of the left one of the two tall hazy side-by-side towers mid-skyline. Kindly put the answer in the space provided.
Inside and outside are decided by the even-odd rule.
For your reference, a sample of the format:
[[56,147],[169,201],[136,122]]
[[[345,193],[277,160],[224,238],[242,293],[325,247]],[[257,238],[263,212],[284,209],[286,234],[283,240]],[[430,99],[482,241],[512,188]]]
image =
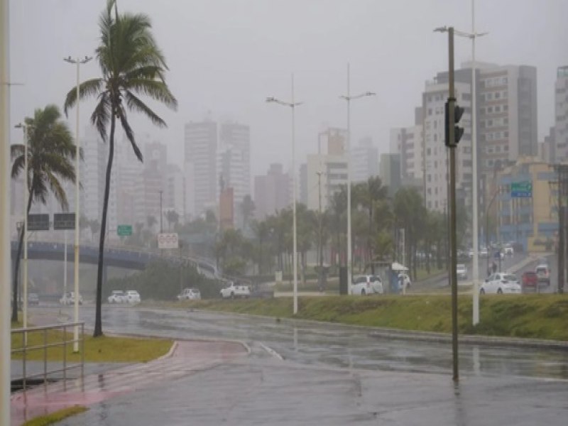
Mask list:
[[185,124],[185,182],[187,214],[195,217],[217,206],[217,123]]

